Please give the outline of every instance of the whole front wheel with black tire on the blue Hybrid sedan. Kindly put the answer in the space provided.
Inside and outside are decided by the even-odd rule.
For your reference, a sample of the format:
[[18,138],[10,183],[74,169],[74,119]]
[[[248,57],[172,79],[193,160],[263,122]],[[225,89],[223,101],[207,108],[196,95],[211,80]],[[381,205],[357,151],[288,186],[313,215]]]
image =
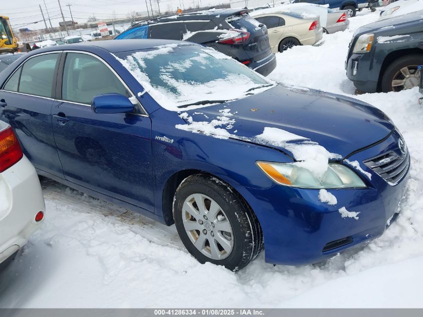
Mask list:
[[260,224],[244,199],[217,178],[197,174],[179,185],[173,204],[178,234],[200,263],[236,271],[263,248]]

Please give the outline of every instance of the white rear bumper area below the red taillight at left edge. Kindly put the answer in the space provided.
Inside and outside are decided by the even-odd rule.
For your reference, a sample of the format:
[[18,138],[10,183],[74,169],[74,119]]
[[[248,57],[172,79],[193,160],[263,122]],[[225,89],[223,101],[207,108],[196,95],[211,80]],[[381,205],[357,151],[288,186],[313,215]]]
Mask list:
[[18,163],[0,173],[2,195],[6,206],[0,210],[0,263],[13,256],[27,242],[40,222],[39,211],[45,213],[44,197],[37,172],[24,156]]

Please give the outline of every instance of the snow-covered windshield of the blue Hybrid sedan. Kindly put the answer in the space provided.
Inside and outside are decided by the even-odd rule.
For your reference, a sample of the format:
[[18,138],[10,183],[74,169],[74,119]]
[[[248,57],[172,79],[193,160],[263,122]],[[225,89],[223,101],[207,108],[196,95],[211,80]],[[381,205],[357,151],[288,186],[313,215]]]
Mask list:
[[116,55],[168,110],[235,100],[274,85],[232,58],[198,45],[170,44]]

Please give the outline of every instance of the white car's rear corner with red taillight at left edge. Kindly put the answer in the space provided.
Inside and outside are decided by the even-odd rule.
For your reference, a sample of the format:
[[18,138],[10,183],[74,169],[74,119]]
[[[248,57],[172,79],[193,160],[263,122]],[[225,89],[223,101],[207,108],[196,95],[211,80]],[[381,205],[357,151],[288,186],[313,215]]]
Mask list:
[[0,266],[28,242],[45,213],[37,172],[12,127],[0,121]]

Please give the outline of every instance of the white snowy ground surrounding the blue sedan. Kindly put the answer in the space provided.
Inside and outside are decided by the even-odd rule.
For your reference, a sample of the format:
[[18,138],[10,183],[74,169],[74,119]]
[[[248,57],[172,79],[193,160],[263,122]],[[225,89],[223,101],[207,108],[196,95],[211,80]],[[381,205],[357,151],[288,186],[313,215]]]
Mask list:
[[[352,33],[378,13],[350,19],[319,47],[278,54],[270,78],[352,95],[344,59]],[[43,180],[48,215],[0,272],[0,307],[423,307],[423,108],[417,89],[356,98],[388,114],[411,153],[411,179],[396,222],[354,253],[307,266],[273,266],[261,254],[233,273],[199,264],[166,227]]]

